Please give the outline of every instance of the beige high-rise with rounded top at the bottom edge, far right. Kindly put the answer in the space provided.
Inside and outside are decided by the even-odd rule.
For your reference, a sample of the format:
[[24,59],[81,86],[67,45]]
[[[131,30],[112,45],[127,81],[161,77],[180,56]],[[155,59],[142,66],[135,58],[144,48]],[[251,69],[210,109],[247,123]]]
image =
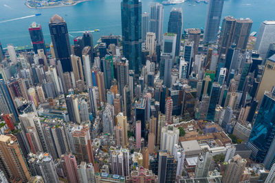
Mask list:
[[225,169],[225,173],[223,175],[222,182],[223,183],[231,183],[231,182],[239,182],[241,180],[241,176],[243,175],[243,171],[245,169],[246,160],[241,158],[238,154],[230,160],[228,166]]

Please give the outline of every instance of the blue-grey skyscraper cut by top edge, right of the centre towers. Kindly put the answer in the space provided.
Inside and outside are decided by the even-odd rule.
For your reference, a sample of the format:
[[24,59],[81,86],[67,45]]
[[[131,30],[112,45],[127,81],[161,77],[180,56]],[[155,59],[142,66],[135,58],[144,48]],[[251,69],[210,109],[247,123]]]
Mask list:
[[210,0],[206,14],[206,24],[204,26],[203,42],[216,42],[223,12],[224,0]]

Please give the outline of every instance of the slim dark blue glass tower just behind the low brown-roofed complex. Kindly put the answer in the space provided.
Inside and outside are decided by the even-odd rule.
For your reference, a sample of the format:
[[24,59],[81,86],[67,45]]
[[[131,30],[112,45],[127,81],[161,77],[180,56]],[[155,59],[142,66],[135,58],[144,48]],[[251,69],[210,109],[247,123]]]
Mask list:
[[216,105],[219,102],[220,94],[221,94],[221,85],[218,83],[213,83],[207,117],[206,117],[208,120],[214,120],[214,112],[216,109]]

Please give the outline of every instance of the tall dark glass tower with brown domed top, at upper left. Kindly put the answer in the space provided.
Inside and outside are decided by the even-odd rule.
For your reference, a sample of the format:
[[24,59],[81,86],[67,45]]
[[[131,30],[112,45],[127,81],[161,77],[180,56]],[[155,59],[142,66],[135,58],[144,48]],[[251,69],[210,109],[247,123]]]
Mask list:
[[56,60],[61,60],[63,72],[72,71],[71,47],[69,45],[69,34],[65,20],[55,14],[49,23],[52,45]]

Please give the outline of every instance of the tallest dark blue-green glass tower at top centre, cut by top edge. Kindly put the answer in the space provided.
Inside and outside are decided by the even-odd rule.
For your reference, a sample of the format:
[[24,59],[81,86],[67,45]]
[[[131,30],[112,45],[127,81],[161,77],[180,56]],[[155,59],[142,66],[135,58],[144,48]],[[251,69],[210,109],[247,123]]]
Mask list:
[[142,60],[142,3],[139,0],[122,0],[122,47],[129,60],[129,69],[139,73]]

